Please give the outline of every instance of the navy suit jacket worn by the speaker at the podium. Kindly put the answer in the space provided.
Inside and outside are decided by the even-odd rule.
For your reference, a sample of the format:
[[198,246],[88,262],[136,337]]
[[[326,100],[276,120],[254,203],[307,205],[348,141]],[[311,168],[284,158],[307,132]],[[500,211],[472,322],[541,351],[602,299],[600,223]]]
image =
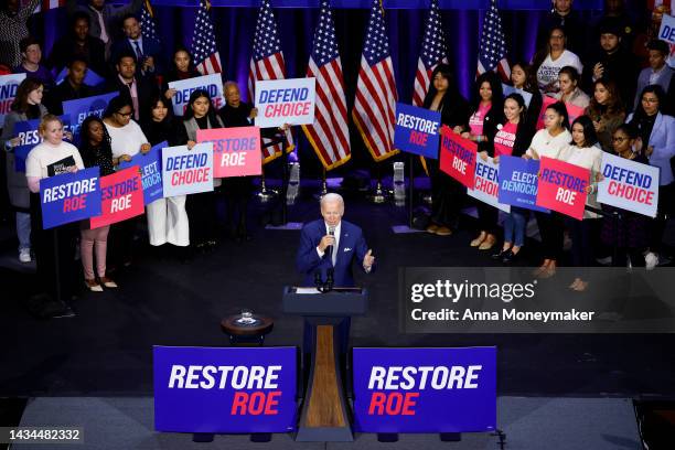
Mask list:
[[[296,265],[304,277],[302,281],[304,286],[314,286],[314,275],[317,271],[321,272],[322,280],[325,281],[326,270],[333,268],[333,262],[328,251],[323,255],[323,258],[320,258],[317,253],[317,246],[325,234],[325,222],[323,218],[310,222],[302,228]],[[368,251],[361,228],[346,221],[342,221],[336,251],[338,259],[333,275],[334,286],[353,287],[352,264],[355,260],[356,264],[362,266],[363,258]],[[374,268],[373,266],[372,270]]]

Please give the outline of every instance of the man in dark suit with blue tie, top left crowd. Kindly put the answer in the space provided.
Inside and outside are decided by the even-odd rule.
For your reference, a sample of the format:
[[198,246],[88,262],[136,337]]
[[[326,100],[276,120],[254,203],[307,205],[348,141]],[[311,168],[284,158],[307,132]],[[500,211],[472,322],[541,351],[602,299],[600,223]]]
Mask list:
[[160,43],[154,39],[143,38],[140,23],[133,14],[125,15],[121,24],[125,36],[113,44],[110,51],[113,61],[117,61],[120,54],[131,54],[143,75],[161,74],[163,67]]

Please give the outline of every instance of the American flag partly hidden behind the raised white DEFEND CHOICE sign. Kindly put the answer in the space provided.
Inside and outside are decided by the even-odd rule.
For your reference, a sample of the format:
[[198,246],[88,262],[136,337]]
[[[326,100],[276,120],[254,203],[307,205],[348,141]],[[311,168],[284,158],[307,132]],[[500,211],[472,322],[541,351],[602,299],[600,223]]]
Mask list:
[[[281,40],[277,30],[277,21],[269,0],[262,0],[258,11],[254,49],[248,68],[248,98],[255,98],[256,81],[286,78],[286,63],[281,52]],[[287,151],[293,149],[290,129],[286,131]],[[269,139],[262,139],[269,143]],[[262,148],[262,163],[267,163],[283,152],[283,143]]]

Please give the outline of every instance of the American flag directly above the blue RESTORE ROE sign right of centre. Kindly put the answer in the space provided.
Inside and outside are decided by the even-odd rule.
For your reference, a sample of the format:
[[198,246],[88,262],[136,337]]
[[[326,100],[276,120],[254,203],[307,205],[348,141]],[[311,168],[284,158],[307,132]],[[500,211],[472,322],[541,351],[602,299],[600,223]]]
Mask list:
[[429,85],[432,82],[431,74],[439,63],[448,64],[446,36],[443,35],[440,11],[438,10],[438,0],[431,0],[427,24],[425,25],[422,47],[417,61],[413,105],[421,106],[425,103]]

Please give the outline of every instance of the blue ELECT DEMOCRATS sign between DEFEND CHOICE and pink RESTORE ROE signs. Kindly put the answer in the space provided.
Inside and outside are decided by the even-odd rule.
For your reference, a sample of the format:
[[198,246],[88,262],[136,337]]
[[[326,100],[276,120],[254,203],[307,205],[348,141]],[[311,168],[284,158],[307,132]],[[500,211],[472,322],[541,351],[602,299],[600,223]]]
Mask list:
[[500,203],[548,213],[537,206],[539,161],[517,157],[500,157]]

